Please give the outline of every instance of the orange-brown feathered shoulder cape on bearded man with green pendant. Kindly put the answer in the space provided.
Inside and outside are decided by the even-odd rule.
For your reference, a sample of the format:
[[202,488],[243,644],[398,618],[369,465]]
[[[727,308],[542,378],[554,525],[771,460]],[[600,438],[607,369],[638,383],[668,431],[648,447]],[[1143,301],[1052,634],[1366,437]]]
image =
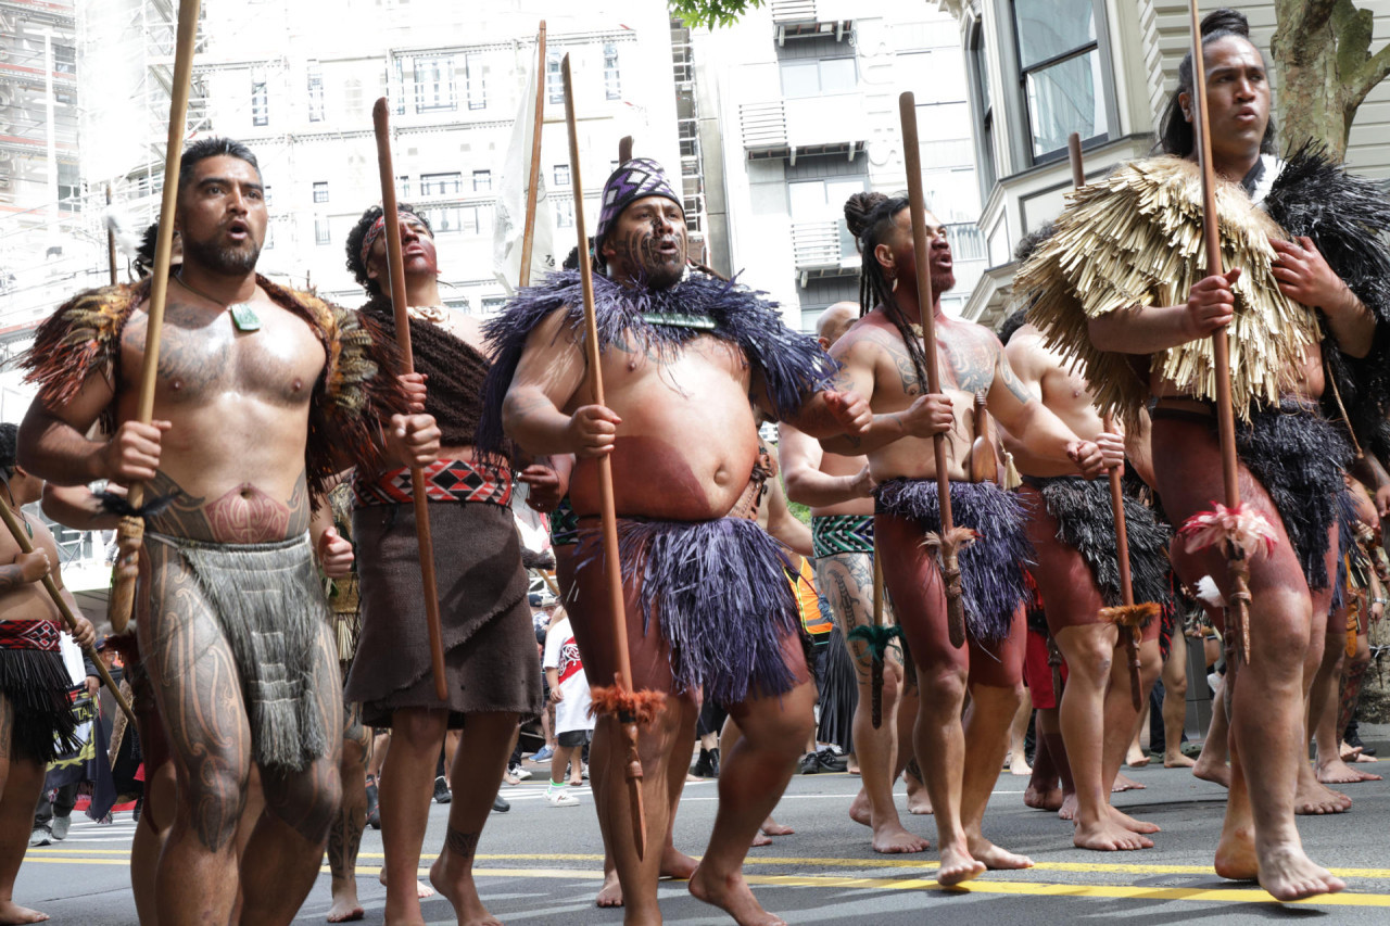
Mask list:
[[[385,446],[389,416],[409,400],[396,380],[399,359],[388,338],[368,318],[306,292],[256,282],[281,307],[314,330],[327,363],[309,412],[304,467],[316,503],[325,481],[341,469],[339,455],[375,466]],[[121,335],[135,309],[149,298],[150,281],[81,292],[46,318],[24,355],[25,381],[39,387],[39,400],[61,406],[92,375],[120,384]],[[115,431],[115,402],[101,410],[101,427]]]

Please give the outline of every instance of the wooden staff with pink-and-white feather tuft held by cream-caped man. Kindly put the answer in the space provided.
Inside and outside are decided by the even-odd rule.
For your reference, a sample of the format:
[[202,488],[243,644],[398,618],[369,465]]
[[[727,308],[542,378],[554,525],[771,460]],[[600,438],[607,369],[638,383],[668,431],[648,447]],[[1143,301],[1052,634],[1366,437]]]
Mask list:
[[[1216,175],[1212,167],[1211,122],[1207,114],[1207,67],[1202,60],[1202,26],[1197,0],[1191,0],[1193,26],[1193,128],[1197,129],[1197,159],[1202,171],[1202,243],[1207,247],[1207,275],[1222,273],[1220,222],[1216,213]],[[1240,501],[1240,464],[1236,457],[1236,410],[1230,396],[1230,341],[1226,328],[1212,332],[1213,373],[1216,378],[1216,432],[1220,438],[1222,488],[1226,503],[1215,510],[1198,512],[1183,524],[1179,534],[1187,551],[1195,552],[1223,544],[1230,573],[1227,615],[1240,628],[1240,648],[1250,662],[1250,556],[1261,548],[1273,549],[1276,534],[1265,516]],[[1230,633],[1227,638],[1236,638]]]

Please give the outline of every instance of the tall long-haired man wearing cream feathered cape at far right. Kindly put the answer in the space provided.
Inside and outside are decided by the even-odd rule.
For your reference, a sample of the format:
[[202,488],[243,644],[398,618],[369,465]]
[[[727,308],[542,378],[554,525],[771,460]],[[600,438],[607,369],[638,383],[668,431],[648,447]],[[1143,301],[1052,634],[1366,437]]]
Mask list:
[[[1211,13],[1201,51],[1226,273],[1202,257],[1188,57],[1163,156],[1077,190],[1017,285],[1036,295],[1048,341],[1081,357],[1104,412],[1133,421],[1152,399],[1156,489],[1175,524],[1223,496],[1208,335],[1230,331],[1241,501],[1272,526],[1273,548],[1247,560],[1248,665],[1229,659],[1238,670],[1227,674],[1232,784],[1216,870],[1294,900],[1343,888],[1304,854],[1294,795],[1308,761],[1304,694],[1346,542],[1348,438],[1382,459],[1390,445],[1390,256],[1379,243],[1390,204],[1316,146],[1273,157],[1268,67],[1241,14]],[[1176,544],[1175,567],[1193,587],[1209,574],[1229,601],[1219,546]]]

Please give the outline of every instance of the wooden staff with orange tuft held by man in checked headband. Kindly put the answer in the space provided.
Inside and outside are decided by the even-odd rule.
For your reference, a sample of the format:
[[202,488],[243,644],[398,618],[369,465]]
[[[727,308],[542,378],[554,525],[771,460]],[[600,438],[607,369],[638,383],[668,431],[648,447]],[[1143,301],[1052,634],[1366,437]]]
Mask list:
[[[589,393],[603,405],[603,374],[599,370],[598,316],[594,309],[594,268],[587,259],[588,231],[584,224],[584,186],[580,178],[580,132],[574,120],[574,86],[570,79],[570,56],[560,63],[564,81],[564,122],[570,133],[570,185],[574,189],[574,229],[580,241],[580,284],[584,291],[584,345],[588,363]],[[660,691],[632,691],[632,663],[627,651],[627,606],[623,596],[623,563],[617,548],[617,507],[613,501],[613,460],[598,457],[599,507],[603,520],[603,566],[607,578],[609,615],[613,622],[613,645],[617,672],[612,687],[592,688],[594,712],[617,717],[627,745],[627,795],[632,818],[632,841],[637,856],[646,856],[646,812],[642,808],[642,759],[637,751],[638,724],[651,723],[664,705]]]

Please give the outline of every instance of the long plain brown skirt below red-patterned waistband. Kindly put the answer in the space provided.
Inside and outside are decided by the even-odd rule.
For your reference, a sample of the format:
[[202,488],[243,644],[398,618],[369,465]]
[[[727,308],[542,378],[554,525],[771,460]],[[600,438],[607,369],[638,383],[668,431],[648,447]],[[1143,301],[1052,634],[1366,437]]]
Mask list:
[[389,727],[398,708],[449,709],[449,726],[473,712],[541,712],[541,658],[512,510],[488,502],[431,502],[448,702],[435,698],[430,634],[411,505],[353,512],[361,638],[348,699],[363,723]]

